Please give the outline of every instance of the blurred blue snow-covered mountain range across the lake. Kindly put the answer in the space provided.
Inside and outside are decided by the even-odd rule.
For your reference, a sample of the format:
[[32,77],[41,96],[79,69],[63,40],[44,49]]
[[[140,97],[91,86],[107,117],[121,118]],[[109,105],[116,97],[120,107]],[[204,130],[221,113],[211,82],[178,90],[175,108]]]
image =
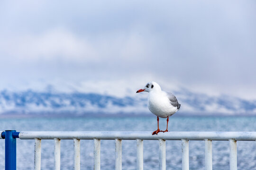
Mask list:
[[[182,104],[180,115],[244,115],[256,114],[256,101],[227,95],[209,96],[186,89],[175,91]],[[137,97],[138,96],[138,97]],[[148,113],[145,97],[116,97],[99,93],[56,93],[0,91],[0,114],[102,114]]]

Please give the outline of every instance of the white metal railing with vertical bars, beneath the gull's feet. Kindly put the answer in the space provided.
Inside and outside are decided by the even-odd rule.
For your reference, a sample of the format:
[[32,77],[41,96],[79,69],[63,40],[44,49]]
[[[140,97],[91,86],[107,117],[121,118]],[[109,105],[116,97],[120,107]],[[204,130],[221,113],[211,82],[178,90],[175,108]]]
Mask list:
[[115,140],[115,169],[122,169],[122,140],[137,140],[137,170],[143,170],[143,140],[159,140],[159,169],[166,169],[166,140],[182,141],[182,170],[189,170],[189,140],[205,141],[205,169],[212,170],[212,140],[229,140],[229,169],[237,170],[237,141],[256,141],[256,132],[20,132],[20,139],[35,139],[35,170],[41,166],[41,140],[54,139],[55,170],[60,170],[61,139],[73,139],[74,170],[80,170],[80,140],[94,140],[94,170],[101,169],[101,140]]

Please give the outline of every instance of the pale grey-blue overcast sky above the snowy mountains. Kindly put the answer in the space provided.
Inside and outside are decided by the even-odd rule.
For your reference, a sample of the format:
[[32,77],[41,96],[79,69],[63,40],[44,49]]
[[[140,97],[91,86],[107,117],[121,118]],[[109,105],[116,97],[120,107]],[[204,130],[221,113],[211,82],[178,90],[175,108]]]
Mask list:
[[0,2],[0,89],[256,98],[255,65],[255,0]]

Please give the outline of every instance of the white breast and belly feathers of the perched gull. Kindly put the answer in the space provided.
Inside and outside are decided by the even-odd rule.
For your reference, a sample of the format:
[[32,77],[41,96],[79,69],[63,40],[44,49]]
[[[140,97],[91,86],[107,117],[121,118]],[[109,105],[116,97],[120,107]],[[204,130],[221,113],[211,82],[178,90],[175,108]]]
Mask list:
[[153,114],[160,118],[172,116],[177,111],[177,107],[170,103],[167,93],[164,91],[150,92],[148,94],[147,106]]

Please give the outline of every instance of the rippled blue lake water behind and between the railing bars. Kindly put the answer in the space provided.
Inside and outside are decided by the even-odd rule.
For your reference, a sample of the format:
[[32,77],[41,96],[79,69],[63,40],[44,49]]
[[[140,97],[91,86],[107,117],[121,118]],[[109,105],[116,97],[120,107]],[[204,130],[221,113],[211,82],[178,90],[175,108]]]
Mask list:
[[[166,119],[160,119],[165,129]],[[155,131],[156,117],[0,119],[0,131]],[[169,131],[256,131],[255,117],[170,117]],[[136,170],[136,141],[122,142],[123,170]],[[190,170],[204,170],[204,141],[189,142]],[[41,169],[54,169],[54,140],[42,140]],[[212,142],[213,170],[229,170],[229,141]],[[0,167],[4,140],[0,139]],[[34,169],[34,140],[17,139],[17,169]],[[115,141],[101,140],[101,170],[115,169]],[[158,141],[144,141],[144,169],[158,170]],[[166,141],[166,169],[182,169],[181,141]],[[238,141],[238,169],[256,170],[256,142]],[[73,140],[61,141],[61,170],[73,170]],[[93,141],[81,140],[81,170],[93,170]]]

